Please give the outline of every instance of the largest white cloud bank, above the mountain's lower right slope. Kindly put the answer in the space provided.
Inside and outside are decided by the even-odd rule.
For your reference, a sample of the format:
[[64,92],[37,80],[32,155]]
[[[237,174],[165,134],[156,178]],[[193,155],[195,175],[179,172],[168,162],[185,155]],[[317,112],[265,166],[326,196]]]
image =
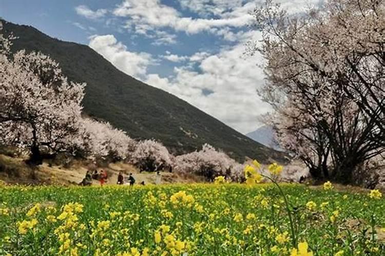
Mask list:
[[[238,45],[223,48],[218,54],[202,52],[187,57],[199,63],[198,72],[186,65],[175,68],[174,77],[150,74],[145,82],[186,100],[240,132],[253,131],[260,125],[258,116],[271,111],[256,93],[263,83],[263,73],[256,67],[262,57],[245,59],[243,55],[244,41],[259,36],[258,32],[250,32],[243,35]],[[212,93],[205,95],[205,91]]]

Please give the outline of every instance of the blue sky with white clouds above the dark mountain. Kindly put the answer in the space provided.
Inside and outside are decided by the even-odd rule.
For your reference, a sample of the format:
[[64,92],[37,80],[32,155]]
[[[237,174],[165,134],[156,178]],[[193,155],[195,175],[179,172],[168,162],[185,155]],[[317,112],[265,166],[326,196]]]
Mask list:
[[[271,110],[257,94],[263,58],[251,15],[263,0],[0,0],[0,17],[88,45],[115,67],[241,133]],[[278,0],[291,13],[322,0]]]

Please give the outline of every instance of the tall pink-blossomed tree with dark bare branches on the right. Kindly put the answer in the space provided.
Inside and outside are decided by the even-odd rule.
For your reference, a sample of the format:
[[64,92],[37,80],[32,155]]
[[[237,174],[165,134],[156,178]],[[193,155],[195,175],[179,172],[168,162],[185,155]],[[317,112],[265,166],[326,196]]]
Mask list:
[[328,0],[300,15],[267,0],[254,12],[265,59],[261,96],[281,146],[314,178],[353,181],[385,153],[385,1]]

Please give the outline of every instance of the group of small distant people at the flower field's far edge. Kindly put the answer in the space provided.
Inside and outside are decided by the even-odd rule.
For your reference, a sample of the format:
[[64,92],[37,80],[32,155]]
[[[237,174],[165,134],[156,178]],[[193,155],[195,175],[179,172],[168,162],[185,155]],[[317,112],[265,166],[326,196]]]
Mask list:
[[[79,183],[79,185],[89,186],[92,184],[92,180],[99,180],[100,185],[103,186],[104,183],[107,181],[107,179],[108,179],[108,175],[107,175],[107,172],[105,170],[101,170],[100,173],[98,173],[98,170],[94,170],[94,172],[92,174],[91,174],[90,170],[87,170],[86,176],[84,177],[82,182]],[[132,176],[132,173],[129,176],[127,176],[126,178],[124,178],[122,172],[119,172],[117,184],[123,185],[123,184],[127,184],[127,183],[129,183],[130,186],[133,186],[133,184],[135,184],[135,178]],[[157,172],[157,177],[156,177],[155,183],[156,184],[161,183],[160,172]],[[140,184],[144,185],[144,181],[142,181]]]

